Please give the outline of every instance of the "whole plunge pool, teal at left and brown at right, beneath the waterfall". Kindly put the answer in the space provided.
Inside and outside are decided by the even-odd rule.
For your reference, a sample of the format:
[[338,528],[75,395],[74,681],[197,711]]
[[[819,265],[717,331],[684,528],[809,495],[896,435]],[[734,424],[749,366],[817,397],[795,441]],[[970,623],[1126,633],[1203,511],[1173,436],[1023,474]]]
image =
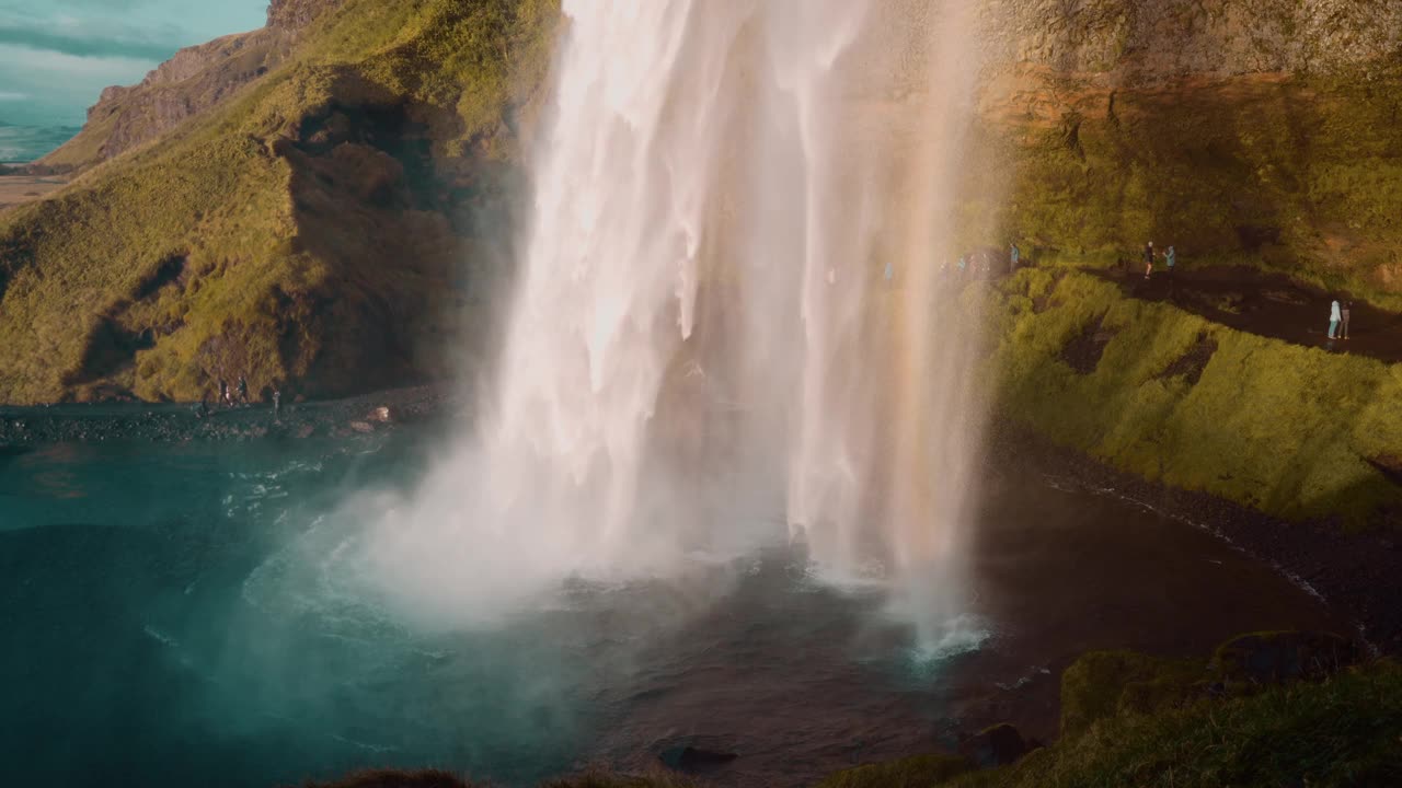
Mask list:
[[1054,475],[990,473],[963,639],[917,651],[873,589],[780,541],[684,578],[566,583],[491,627],[359,592],[327,513],[408,484],[412,429],[343,440],[0,453],[0,782],[289,785],[439,766],[527,785],[686,745],[707,777],[802,785],[1012,719],[1056,731],[1091,648],[1202,653],[1346,624],[1202,529]]

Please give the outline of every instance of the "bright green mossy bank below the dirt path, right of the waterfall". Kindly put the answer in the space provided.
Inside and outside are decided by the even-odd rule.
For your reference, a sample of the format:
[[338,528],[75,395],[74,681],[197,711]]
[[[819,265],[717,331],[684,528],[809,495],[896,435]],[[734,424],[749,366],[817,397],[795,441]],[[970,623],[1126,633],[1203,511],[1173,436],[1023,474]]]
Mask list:
[[990,308],[986,373],[1008,419],[1287,519],[1402,516],[1402,487],[1370,464],[1402,446],[1402,367],[1234,331],[1071,268],[1023,269]]

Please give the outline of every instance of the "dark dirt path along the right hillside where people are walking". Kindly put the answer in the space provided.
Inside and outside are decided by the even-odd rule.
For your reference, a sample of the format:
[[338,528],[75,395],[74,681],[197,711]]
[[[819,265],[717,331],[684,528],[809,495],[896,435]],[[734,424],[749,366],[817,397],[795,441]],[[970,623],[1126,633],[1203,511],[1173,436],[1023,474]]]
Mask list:
[[1179,271],[1169,276],[1155,268],[1154,276],[1145,280],[1141,266],[1131,266],[1129,272],[1082,271],[1115,282],[1130,297],[1168,301],[1238,331],[1388,363],[1402,362],[1402,314],[1356,300],[1349,339],[1330,341],[1329,303],[1336,297],[1345,303],[1346,293],[1325,293],[1280,273],[1231,266]]

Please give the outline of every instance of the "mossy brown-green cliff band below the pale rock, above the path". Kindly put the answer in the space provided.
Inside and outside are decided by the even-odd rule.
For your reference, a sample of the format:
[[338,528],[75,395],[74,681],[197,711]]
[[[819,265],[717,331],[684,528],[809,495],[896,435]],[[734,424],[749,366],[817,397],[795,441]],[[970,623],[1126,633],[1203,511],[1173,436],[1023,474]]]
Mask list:
[[1073,254],[1154,240],[1402,308],[1402,59],[1108,87],[1023,67],[969,133],[967,243]]

